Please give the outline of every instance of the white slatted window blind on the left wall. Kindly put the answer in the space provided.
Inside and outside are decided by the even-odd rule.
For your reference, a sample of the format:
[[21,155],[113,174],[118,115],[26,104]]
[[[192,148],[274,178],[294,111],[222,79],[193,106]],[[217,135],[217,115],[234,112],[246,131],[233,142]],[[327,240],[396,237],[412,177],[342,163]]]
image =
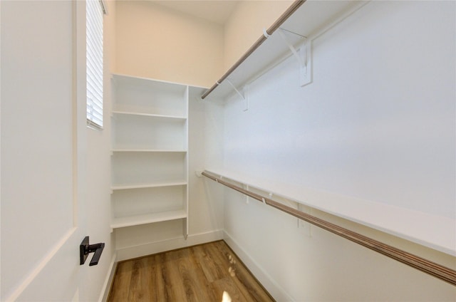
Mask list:
[[103,4],[86,1],[87,123],[103,128]]

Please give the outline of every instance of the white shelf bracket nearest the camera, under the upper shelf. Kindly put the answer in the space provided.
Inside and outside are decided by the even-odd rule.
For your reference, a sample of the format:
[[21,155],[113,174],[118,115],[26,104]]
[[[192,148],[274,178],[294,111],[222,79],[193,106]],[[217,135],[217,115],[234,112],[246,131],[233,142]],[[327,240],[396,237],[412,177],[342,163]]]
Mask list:
[[[298,60],[299,63],[299,82],[301,87],[311,83],[311,43],[308,38],[304,38],[304,43],[301,44],[299,48],[295,48],[286,38],[284,30],[279,28],[278,30],[281,38],[286,43],[286,46],[290,48],[293,56]],[[295,33],[296,34],[296,33]]]

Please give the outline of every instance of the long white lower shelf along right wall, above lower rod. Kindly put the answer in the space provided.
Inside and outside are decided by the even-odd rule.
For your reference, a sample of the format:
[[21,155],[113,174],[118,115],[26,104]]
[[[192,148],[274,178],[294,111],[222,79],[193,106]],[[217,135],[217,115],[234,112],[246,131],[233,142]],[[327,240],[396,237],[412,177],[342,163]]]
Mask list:
[[274,192],[293,202],[348,219],[387,234],[427,246],[445,254],[456,256],[455,219],[418,212],[380,202],[348,197],[341,194],[318,191],[313,188],[288,183],[270,182],[266,179],[226,171],[207,170],[223,175],[235,182],[248,184],[250,188]]

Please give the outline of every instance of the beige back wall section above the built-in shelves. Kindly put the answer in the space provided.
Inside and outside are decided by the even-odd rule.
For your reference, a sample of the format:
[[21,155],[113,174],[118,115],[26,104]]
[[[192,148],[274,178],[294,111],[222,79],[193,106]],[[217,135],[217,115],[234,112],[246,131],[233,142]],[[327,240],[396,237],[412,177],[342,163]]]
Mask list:
[[116,73],[210,86],[222,74],[223,28],[153,1],[118,1]]

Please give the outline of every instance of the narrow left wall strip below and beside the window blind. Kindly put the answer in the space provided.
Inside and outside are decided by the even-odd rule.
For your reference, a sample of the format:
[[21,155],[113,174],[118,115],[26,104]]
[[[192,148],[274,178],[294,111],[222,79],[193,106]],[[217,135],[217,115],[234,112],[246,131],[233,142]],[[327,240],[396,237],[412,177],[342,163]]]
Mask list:
[[109,291],[108,278],[115,257],[114,236],[110,229],[110,150],[111,150],[111,80],[110,71],[115,64],[115,1],[105,2],[108,14],[103,20],[103,130],[86,127],[86,183],[87,183],[87,235],[90,244],[105,243],[97,266],[90,267],[90,278],[81,280],[81,301],[101,301]]

